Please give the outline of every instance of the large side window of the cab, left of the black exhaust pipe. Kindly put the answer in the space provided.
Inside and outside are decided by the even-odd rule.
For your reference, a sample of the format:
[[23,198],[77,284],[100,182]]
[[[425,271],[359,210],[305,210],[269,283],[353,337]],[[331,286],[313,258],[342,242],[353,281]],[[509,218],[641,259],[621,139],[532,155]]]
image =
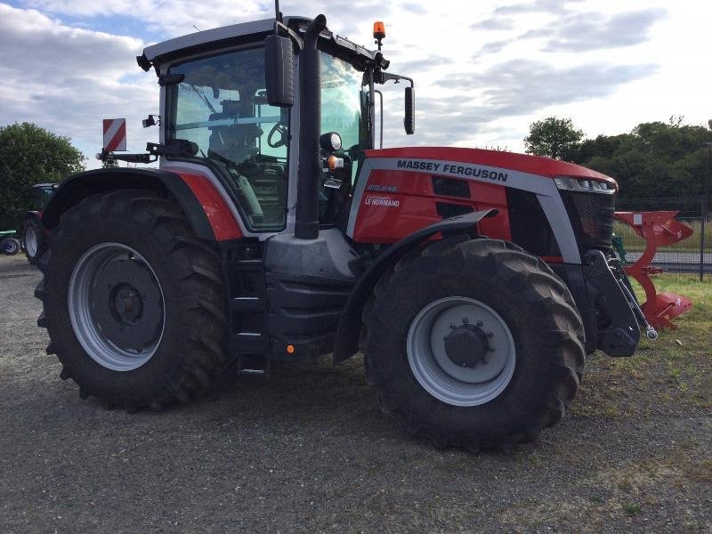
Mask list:
[[287,109],[267,104],[262,48],[174,65],[168,139],[195,142],[199,159],[221,174],[252,231],[279,231],[287,207]]

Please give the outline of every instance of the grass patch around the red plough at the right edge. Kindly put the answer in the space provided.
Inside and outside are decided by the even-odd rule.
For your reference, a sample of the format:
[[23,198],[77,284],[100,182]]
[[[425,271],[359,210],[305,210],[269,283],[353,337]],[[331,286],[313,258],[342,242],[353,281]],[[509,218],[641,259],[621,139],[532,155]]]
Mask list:
[[661,274],[654,281],[659,292],[690,297],[692,310],[674,321],[676,330],[662,330],[657,341],[643,337],[630,358],[590,356],[578,401],[570,408],[573,417],[620,421],[712,408],[712,277],[700,282]]

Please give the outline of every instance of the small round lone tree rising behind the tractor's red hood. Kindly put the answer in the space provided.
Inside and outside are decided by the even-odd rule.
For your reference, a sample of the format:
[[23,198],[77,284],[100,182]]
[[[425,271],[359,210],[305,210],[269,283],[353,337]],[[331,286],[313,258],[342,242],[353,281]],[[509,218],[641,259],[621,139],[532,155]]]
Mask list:
[[529,154],[571,160],[575,158],[583,136],[570,118],[546,117],[531,123],[524,146]]

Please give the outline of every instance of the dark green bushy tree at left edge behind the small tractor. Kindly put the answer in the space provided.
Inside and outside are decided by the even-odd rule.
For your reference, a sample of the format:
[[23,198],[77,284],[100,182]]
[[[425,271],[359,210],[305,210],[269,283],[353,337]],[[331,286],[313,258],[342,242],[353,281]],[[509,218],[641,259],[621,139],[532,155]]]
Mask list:
[[31,123],[0,126],[0,230],[20,230],[32,206],[31,186],[61,182],[85,169],[69,137]]

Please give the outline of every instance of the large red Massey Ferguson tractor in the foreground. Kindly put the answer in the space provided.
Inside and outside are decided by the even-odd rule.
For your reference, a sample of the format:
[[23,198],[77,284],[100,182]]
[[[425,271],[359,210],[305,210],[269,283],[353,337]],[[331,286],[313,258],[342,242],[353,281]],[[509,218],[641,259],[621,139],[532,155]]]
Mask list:
[[[617,184],[452,148],[376,150],[376,86],[413,82],[323,15],[216,28],[137,58],[159,143],[63,182],[38,320],[62,378],[129,411],[228,370],[358,352],[381,406],[437,447],[536,439],[587,353],[651,336],[611,249]],[[153,123],[153,120],[144,121]]]

